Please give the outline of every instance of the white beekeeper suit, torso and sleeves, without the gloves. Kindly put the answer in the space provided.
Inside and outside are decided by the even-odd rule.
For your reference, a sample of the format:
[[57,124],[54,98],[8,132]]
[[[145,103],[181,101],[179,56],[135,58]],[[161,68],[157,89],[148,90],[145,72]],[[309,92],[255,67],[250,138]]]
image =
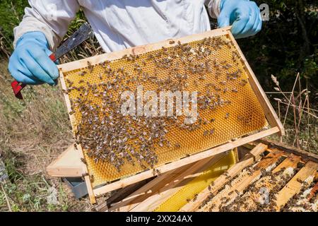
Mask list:
[[57,48],[76,13],[83,12],[105,52],[211,30],[208,13],[220,13],[220,0],[29,0],[23,21],[14,29],[17,40],[41,31]]

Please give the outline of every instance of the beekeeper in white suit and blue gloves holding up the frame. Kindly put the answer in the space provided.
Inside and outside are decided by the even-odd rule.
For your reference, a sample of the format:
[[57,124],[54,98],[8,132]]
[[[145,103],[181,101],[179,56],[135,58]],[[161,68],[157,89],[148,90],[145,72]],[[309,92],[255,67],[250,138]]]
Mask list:
[[105,52],[211,30],[208,13],[218,18],[219,27],[232,25],[236,38],[261,30],[259,8],[248,0],[29,0],[29,4],[14,29],[15,51],[8,69],[16,81],[30,85],[55,84],[59,73],[48,56],[80,7]]

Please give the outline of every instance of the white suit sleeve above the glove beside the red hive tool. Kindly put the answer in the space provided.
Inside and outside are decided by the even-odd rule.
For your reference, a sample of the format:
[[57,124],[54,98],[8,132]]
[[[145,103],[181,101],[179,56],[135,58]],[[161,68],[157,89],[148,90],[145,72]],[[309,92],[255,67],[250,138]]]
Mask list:
[[56,49],[69,23],[76,17],[80,6],[77,0],[29,0],[30,8],[25,8],[25,15],[18,27],[14,28],[14,42],[25,32],[41,31],[47,37],[51,49]]

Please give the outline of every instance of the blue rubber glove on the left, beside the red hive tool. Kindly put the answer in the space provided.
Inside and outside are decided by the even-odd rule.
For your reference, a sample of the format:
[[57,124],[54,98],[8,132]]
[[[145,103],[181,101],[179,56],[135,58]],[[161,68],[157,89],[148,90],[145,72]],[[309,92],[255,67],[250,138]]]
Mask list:
[[49,59],[50,54],[49,43],[42,32],[27,32],[18,40],[8,70],[20,83],[57,85],[59,70]]

